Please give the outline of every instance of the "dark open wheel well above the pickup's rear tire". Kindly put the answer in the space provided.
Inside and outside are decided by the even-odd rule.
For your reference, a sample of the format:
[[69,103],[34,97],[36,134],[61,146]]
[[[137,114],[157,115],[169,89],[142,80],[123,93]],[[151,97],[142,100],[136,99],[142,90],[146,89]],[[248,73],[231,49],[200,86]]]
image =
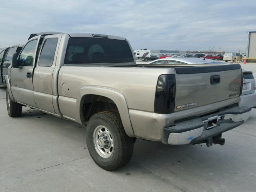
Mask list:
[[86,121],[88,121],[91,116],[102,111],[118,112],[118,108],[115,102],[108,97],[94,94],[88,94],[82,97],[80,103],[80,118],[82,124],[86,124]]

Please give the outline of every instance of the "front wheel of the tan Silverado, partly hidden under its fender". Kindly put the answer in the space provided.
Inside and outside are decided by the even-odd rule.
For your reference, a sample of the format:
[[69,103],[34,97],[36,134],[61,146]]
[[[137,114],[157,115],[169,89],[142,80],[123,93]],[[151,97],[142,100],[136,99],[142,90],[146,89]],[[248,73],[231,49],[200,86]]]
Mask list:
[[6,89],[6,105],[7,105],[7,112],[10,117],[21,116],[22,105],[12,101],[12,99],[10,98],[8,89]]

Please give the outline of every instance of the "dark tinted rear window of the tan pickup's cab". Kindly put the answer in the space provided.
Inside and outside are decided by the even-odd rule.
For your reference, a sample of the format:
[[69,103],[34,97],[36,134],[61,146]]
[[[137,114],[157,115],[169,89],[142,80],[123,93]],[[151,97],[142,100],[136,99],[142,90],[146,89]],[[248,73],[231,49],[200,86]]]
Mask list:
[[134,63],[126,40],[72,37],[68,40],[64,65]]

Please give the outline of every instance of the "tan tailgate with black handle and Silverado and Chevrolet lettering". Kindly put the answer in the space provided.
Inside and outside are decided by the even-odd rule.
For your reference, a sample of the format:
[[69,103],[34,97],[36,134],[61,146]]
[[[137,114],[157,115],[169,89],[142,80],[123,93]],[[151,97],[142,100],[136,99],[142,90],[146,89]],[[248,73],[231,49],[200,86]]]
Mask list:
[[174,111],[239,97],[242,70],[239,64],[175,68]]

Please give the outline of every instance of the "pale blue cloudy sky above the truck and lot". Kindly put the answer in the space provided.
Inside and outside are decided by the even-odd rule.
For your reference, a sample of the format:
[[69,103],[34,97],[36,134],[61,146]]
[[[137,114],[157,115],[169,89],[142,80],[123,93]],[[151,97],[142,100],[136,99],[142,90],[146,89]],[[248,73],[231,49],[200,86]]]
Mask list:
[[58,31],[123,36],[133,49],[244,52],[255,10],[255,0],[6,0],[0,48]]

